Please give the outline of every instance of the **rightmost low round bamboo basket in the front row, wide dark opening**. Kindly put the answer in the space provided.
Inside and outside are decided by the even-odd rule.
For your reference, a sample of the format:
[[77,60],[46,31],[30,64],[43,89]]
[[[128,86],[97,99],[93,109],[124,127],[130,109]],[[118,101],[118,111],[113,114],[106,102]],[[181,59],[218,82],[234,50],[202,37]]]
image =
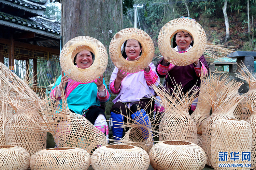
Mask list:
[[187,141],[158,142],[149,156],[154,170],[202,170],[206,163],[203,149]]

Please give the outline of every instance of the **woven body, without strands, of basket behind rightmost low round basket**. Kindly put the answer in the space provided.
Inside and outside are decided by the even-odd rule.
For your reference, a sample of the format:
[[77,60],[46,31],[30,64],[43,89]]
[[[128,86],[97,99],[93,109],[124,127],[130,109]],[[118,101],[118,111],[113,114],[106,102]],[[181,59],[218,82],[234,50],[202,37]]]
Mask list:
[[[178,121],[177,121],[178,120]],[[196,143],[197,127],[188,111],[175,112],[173,109],[165,112],[159,124],[159,140],[184,140]]]

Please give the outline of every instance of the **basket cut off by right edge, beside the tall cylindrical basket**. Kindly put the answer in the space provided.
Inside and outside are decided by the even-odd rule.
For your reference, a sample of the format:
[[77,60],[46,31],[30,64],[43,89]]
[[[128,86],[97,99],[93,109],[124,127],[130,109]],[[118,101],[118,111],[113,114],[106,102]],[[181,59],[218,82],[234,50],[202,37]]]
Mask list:
[[256,102],[246,103],[244,106],[248,108],[252,116],[246,121],[251,125],[252,129],[252,150],[251,150],[251,160],[252,167],[251,169],[256,170]]

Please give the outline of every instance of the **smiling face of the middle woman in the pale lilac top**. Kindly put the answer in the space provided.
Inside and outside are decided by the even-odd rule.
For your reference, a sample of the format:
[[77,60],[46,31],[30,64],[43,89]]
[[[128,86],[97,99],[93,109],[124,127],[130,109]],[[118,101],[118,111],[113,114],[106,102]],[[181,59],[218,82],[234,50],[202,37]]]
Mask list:
[[142,48],[135,39],[128,39],[125,46],[125,53],[129,60],[134,61],[140,55]]

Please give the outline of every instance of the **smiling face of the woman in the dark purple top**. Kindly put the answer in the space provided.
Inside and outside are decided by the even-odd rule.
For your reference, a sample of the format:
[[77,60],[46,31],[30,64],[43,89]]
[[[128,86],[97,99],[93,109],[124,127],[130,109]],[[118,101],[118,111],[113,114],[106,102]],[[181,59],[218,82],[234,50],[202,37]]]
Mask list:
[[176,35],[176,44],[179,46],[181,49],[187,48],[193,38],[189,36],[189,34],[185,31],[180,31]]

